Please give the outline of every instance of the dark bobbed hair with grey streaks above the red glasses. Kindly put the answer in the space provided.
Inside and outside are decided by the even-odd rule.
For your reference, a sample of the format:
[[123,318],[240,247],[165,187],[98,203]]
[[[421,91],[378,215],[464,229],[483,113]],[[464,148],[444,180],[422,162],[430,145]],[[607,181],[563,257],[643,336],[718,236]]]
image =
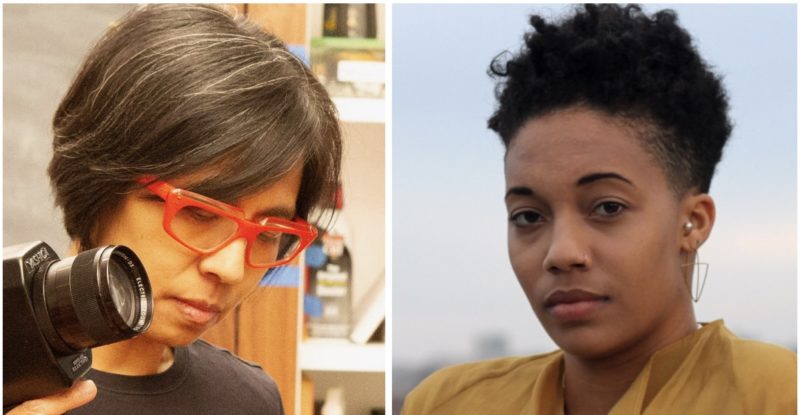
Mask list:
[[335,197],[341,131],[284,43],[208,5],[131,11],[90,51],[53,119],[49,174],[82,249],[145,175],[235,201],[303,169],[297,216]]

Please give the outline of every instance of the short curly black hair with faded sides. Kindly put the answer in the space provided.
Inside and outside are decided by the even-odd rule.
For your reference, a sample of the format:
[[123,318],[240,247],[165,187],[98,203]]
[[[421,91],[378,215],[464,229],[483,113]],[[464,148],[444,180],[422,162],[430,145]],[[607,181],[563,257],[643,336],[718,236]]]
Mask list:
[[489,67],[499,105],[488,124],[506,149],[528,120],[584,106],[643,125],[679,195],[708,192],[731,134],[728,99],[674,11],[586,4],[554,24],[530,22],[522,50]]

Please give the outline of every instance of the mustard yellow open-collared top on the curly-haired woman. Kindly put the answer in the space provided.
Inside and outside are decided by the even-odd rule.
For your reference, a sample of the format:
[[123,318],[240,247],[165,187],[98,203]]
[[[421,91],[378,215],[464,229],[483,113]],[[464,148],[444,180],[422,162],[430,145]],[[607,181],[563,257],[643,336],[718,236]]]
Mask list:
[[[437,371],[406,397],[404,415],[563,415],[564,352]],[[797,355],[736,337],[722,320],[659,350],[609,412],[796,414]]]

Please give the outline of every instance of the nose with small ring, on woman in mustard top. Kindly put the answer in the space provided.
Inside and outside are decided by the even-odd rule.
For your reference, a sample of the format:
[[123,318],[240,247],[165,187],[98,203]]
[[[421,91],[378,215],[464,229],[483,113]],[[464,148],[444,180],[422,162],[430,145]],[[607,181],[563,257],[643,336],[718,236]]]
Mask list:
[[561,218],[553,222],[550,246],[542,266],[554,275],[591,266],[588,241],[579,220]]

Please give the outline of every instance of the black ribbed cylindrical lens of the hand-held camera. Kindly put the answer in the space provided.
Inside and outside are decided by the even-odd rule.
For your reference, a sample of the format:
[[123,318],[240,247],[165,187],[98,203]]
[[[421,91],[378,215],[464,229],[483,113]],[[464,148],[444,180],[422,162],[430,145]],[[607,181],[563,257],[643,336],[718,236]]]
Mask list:
[[124,246],[54,261],[34,278],[37,318],[46,322],[41,325],[51,346],[64,353],[129,339],[152,321],[150,282]]

